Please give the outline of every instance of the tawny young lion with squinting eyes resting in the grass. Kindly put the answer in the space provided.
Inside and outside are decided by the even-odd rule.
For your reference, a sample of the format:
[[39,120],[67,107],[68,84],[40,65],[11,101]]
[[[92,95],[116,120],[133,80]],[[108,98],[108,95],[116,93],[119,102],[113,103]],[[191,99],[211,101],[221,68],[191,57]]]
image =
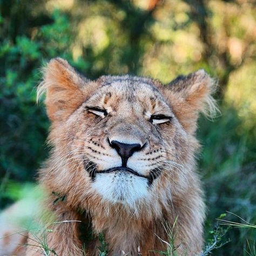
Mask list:
[[[158,255],[168,230],[177,255],[200,254],[205,203],[195,133],[199,113],[215,111],[214,80],[204,70],[169,84],[90,80],[62,58],[43,73],[38,98],[45,93],[52,149],[39,186],[56,219],[46,234],[52,255],[98,255],[99,234],[108,255]],[[43,254],[32,234],[29,244],[26,255]]]

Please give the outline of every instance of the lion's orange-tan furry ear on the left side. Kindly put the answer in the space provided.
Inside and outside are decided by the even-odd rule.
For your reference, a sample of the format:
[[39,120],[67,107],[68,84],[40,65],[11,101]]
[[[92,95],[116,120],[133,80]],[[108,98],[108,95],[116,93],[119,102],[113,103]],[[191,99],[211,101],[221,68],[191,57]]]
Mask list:
[[85,100],[84,85],[89,82],[62,58],[51,59],[43,68],[43,81],[37,100],[45,92],[45,105],[51,121],[65,120]]

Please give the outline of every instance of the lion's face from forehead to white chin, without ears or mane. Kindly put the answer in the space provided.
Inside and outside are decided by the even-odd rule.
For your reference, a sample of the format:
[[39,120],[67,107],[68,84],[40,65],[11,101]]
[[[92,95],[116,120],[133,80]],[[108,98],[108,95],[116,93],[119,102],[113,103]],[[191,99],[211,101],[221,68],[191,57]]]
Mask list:
[[171,161],[166,159],[175,163],[175,117],[150,80],[110,77],[70,119],[81,127],[71,150],[82,148],[84,178],[111,203],[132,205],[151,197]]

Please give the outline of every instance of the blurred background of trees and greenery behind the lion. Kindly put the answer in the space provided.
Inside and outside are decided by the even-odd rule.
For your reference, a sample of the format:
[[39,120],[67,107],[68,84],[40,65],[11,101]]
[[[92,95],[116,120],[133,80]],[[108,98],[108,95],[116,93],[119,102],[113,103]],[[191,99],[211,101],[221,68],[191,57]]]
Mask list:
[[[201,117],[197,134],[206,244],[226,211],[256,223],[255,1],[0,0],[0,208],[30,193],[48,156],[36,86],[57,56],[91,79],[131,73],[167,83],[201,68],[216,78],[221,114]],[[232,228],[228,240],[213,255],[256,255],[255,228]]]

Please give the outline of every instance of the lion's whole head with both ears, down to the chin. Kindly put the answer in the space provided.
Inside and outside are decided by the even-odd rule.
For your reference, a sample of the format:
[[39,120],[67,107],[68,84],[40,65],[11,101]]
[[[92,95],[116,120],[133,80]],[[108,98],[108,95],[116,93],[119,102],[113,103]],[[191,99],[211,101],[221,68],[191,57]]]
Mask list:
[[[197,79],[192,80],[194,85]],[[136,208],[184,190],[198,146],[193,127],[201,108],[186,97],[203,100],[209,90],[204,85],[203,96],[193,95],[177,83],[170,91],[139,77],[90,82],[64,60],[52,60],[42,87],[52,120],[50,140],[62,163],[53,169],[63,177],[65,193],[79,191],[80,198]]]

